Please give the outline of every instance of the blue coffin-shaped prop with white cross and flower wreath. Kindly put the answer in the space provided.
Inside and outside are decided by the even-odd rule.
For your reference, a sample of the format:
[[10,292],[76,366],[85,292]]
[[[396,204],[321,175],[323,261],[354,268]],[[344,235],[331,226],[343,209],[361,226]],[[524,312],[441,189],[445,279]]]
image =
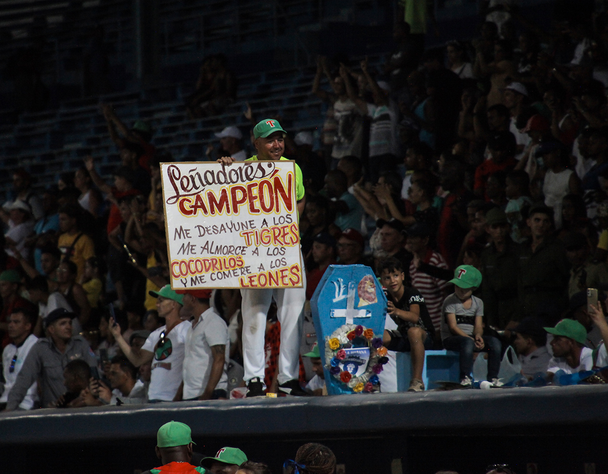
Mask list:
[[387,299],[370,267],[330,265],[310,303],[327,393],[378,391]]

